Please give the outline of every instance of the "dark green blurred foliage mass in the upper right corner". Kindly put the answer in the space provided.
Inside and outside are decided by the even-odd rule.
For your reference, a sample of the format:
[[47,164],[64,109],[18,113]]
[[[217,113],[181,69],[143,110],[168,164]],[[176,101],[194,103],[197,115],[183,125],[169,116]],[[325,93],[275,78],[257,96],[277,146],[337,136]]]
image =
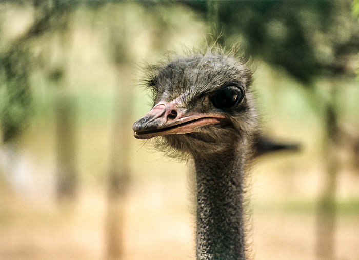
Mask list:
[[[205,1],[182,2],[203,15],[208,10]],[[226,45],[240,39],[246,53],[304,83],[355,75],[359,26],[351,1],[221,1],[219,19]]]

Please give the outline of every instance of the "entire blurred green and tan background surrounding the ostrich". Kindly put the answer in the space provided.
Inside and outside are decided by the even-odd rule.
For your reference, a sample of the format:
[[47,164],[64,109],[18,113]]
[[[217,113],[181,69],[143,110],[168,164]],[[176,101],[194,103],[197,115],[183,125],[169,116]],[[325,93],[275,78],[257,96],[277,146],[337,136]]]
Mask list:
[[190,165],[133,137],[143,67],[240,43],[256,259],[359,259],[359,2],[0,3],[0,259],[194,259]]

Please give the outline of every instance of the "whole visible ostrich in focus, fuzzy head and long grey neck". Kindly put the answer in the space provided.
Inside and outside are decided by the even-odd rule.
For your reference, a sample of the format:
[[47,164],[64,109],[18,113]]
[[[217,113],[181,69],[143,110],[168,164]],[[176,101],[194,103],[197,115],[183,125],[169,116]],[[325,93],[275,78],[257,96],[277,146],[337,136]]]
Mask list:
[[[133,125],[138,139],[193,159],[196,259],[246,259],[246,171],[258,119],[252,73],[234,51],[202,53],[149,66],[152,109]],[[248,257],[248,255],[247,255]]]

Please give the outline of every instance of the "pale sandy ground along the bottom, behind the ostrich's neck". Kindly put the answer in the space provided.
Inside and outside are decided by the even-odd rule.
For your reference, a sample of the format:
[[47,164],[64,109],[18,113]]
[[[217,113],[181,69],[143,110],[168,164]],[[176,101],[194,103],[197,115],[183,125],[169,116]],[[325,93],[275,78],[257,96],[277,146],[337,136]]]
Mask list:
[[[194,259],[193,216],[184,179],[139,182],[124,202],[123,260]],[[178,185],[178,183],[183,185]],[[0,259],[106,259],[106,196],[81,192],[76,205],[20,198],[0,191]],[[270,207],[269,207],[270,208]],[[315,257],[315,215],[256,210],[255,259],[311,260]],[[359,217],[340,216],[336,259],[359,259]]]

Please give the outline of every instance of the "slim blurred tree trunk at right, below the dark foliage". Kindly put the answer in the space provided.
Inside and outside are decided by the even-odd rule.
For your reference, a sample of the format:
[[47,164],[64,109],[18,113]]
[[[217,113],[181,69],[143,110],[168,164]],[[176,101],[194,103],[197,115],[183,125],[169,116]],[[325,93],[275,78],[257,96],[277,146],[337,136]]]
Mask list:
[[334,81],[329,101],[326,103],[326,136],[323,146],[325,174],[317,207],[316,255],[320,260],[335,259],[336,187],[339,171],[337,154],[339,128],[336,101],[337,86]]

